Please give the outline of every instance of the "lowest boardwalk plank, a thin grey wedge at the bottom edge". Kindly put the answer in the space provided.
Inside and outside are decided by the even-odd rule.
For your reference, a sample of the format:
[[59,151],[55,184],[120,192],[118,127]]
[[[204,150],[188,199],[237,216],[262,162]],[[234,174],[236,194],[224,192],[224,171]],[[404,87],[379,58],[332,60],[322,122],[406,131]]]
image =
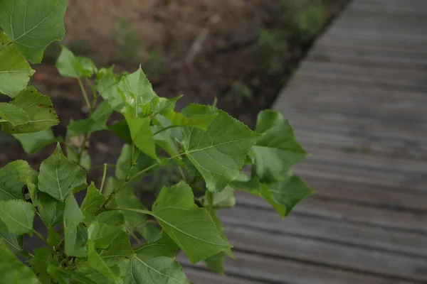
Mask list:
[[187,278],[194,284],[260,284],[255,280],[224,276],[202,269],[196,269],[192,266],[184,266],[184,272]]

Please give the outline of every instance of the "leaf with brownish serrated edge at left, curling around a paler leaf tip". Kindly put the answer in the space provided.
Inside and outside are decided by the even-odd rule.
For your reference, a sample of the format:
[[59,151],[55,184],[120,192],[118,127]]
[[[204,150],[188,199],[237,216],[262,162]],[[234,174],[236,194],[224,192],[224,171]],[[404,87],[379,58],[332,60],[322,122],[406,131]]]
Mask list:
[[[51,99],[37,92],[34,87],[23,89],[12,99],[10,104],[23,109],[28,116],[28,121],[17,125],[11,124],[10,122],[2,122],[1,130],[6,133],[19,134],[38,132],[59,123]],[[14,122],[16,123],[17,121]]]

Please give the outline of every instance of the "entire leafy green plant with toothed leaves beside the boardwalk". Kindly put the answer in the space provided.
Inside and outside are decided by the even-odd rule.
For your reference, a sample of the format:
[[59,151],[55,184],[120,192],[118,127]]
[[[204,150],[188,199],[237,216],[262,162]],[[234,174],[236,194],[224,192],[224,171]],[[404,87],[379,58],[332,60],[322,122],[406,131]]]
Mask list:
[[[38,170],[24,160],[0,168],[0,282],[189,283],[175,261],[178,249],[191,263],[206,261],[223,273],[224,257],[233,254],[216,212],[233,207],[234,190],[264,198],[282,218],[312,194],[290,171],[306,155],[290,124],[269,110],[260,112],[255,131],[216,107],[175,111],[179,97],[158,97],[140,68],[116,75],[63,47],[58,71],[78,81],[89,114],[73,121],[65,138],[53,136],[56,111],[27,87],[34,71],[26,60],[40,62],[48,43],[63,37],[66,4],[0,0],[0,92],[11,98],[0,104],[1,129],[28,153],[57,143]],[[113,111],[122,120],[110,125]],[[95,131],[125,141],[115,176],[107,178],[104,164],[98,187],[87,182],[87,142]],[[181,181],[162,187],[151,209],[145,207],[130,185],[170,165]],[[82,190],[79,204],[75,193]],[[46,226],[44,236],[35,218]],[[44,246],[26,251],[26,234]],[[140,244],[132,246],[130,236]]]

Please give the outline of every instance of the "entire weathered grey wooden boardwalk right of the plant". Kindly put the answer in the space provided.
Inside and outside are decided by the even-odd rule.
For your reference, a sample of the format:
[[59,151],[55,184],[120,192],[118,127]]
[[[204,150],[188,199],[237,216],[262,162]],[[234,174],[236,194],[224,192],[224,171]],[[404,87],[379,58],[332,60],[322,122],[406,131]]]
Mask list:
[[236,259],[194,283],[427,283],[427,1],[354,0],[275,108],[312,153],[317,194],[280,221],[238,194],[221,212]]

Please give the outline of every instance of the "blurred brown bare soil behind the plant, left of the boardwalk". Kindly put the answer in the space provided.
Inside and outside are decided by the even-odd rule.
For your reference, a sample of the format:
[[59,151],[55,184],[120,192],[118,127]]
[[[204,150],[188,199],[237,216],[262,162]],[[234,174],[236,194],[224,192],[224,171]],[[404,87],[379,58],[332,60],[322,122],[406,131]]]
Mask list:
[[[270,107],[315,39],[290,40],[278,57],[280,72],[265,72],[256,50],[259,31],[283,29],[278,25],[284,16],[278,11],[284,1],[296,5],[300,0],[73,0],[65,17],[64,43],[78,55],[93,58],[98,67],[115,64],[116,70],[131,72],[142,64],[160,96],[184,94],[181,102],[203,104],[218,97],[218,107],[253,126],[258,111]],[[326,26],[346,0],[305,2],[303,9],[311,2],[322,4]],[[300,20],[296,10],[286,17]],[[34,66],[33,84],[53,99],[61,121],[54,132],[65,135],[70,119],[83,119],[85,113],[78,84],[60,77],[53,65],[57,55],[58,45],[46,51],[43,64]],[[251,96],[228,97],[236,82],[243,82]],[[90,144],[93,165],[114,163],[121,144],[106,133],[95,133]],[[21,146],[1,132],[0,146],[0,166],[23,158],[38,168],[52,151],[47,147],[36,155],[23,154]]]

